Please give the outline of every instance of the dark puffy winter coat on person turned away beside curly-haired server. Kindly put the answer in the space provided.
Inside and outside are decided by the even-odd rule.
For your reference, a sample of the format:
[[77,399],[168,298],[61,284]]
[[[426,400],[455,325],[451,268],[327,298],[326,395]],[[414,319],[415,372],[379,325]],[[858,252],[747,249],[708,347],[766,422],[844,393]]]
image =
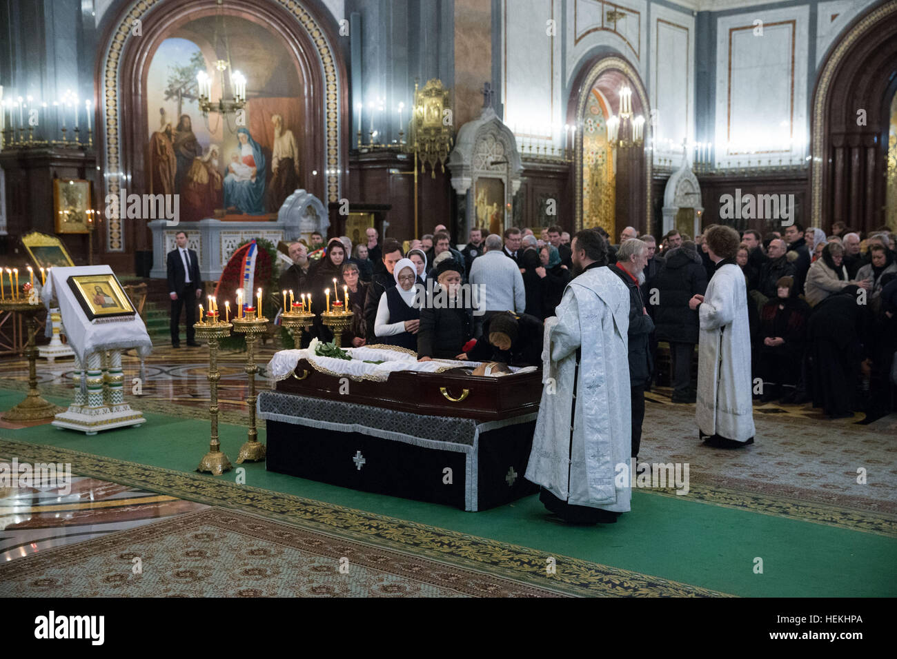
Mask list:
[[707,290],[701,257],[682,247],[671,249],[651,289],[658,291],[658,304],[654,306],[658,341],[698,343],[698,312],[688,308],[688,301]]

